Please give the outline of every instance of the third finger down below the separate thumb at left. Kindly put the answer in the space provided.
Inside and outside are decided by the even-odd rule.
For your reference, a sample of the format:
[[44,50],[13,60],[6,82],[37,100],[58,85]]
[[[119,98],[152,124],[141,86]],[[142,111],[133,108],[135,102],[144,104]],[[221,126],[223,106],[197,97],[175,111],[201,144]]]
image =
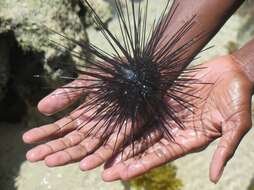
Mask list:
[[80,161],[90,152],[93,152],[100,145],[100,139],[88,138],[74,147],[51,154],[45,158],[45,163],[49,167],[63,166],[69,163]]

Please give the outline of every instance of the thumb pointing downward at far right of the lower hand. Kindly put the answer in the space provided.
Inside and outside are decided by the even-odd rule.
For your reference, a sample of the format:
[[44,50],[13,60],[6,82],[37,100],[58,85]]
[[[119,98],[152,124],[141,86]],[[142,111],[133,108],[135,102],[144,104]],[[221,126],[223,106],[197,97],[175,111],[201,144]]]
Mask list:
[[221,137],[220,143],[214,152],[210,165],[210,180],[217,183],[222,176],[227,162],[233,157],[241,139],[251,128],[251,119],[245,117],[241,121],[228,121],[222,128],[225,130]]

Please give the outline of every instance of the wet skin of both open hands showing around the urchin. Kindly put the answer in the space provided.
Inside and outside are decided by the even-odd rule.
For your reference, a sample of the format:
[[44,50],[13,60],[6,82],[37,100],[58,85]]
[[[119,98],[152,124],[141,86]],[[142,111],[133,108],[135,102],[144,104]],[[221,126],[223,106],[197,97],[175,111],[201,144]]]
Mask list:
[[[147,146],[137,149],[134,157],[126,154],[112,157],[115,134],[112,134],[112,141],[100,146],[99,138],[84,138],[86,130],[91,126],[75,130],[82,117],[74,122],[70,122],[71,118],[67,117],[31,129],[23,135],[24,142],[29,144],[48,141],[30,150],[27,159],[31,162],[44,160],[50,167],[80,161],[80,168],[84,171],[105,163],[102,173],[105,181],[129,180],[186,154],[202,151],[220,138],[210,164],[210,180],[216,183],[227,161],[251,128],[253,83],[230,55],[209,61],[202,68],[195,73],[195,78],[212,84],[193,84],[196,93],[202,94],[204,98],[193,102],[196,108],[193,114],[184,117],[185,129],[174,130],[175,142],[158,131],[151,131],[145,134],[150,137]],[[69,85],[80,85],[80,81]],[[61,88],[44,98],[38,109],[51,115],[70,105],[80,95],[81,92],[70,93],[68,89]],[[73,112],[71,117],[75,115],[78,113]],[[121,143],[122,136],[119,139],[118,143]],[[126,152],[129,148],[125,148]]]

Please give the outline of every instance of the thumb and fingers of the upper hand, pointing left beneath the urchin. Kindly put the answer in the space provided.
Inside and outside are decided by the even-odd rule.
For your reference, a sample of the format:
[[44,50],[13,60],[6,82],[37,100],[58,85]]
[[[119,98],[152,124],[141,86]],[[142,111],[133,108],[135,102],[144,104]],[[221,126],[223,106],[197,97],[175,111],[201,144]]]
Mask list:
[[[84,76],[55,90],[41,100],[38,104],[39,111],[45,115],[52,115],[64,110],[80,97],[86,96],[84,89],[87,86],[87,80],[82,77]],[[23,135],[23,141],[27,144],[40,144],[27,152],[27,160],[31,162],[44,160],[49,167],[82,160],[80,168],[87,170],[101,165],[112,157],[115,153],[113,149],[117,150],[123,144],[124,136],[130,132],[129,125],[127,124],[120,133],[113,132],[106,145],[102,145],[101,134],[87,136],[88,131],[96,128],[94,126],[97,125],[97,121],[93,120],[85,124],[87,119],[92,117],[94,110],[84,113],[81,107],[82,105],[54,123],[27,131]],[[98,125],[97,128],[103,131],[103,127]]]

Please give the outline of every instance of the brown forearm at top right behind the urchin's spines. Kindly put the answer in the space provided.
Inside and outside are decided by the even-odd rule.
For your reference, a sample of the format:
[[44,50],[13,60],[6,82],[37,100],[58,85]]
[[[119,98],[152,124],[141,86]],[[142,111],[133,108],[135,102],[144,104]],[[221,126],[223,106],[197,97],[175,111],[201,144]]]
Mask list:
[[195,17],[194,26],[179,40],[175,46],[177,49],[192,39],[195,35],[205,34],[195,45],[188,49],[190,60],[195,57],[204,46],[213,38],[230,16],[242,5],[244,0],[175,0],[173,6],[178,6],[170,26],[167,28],[161,44],[172,38],[183,23]]

